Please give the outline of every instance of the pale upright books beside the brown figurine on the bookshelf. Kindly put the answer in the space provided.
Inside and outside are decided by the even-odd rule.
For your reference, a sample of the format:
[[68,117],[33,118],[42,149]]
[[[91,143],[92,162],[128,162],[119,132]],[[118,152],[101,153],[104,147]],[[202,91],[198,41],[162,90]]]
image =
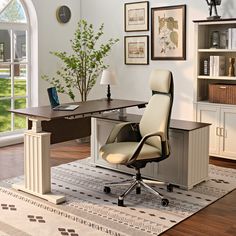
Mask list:
[[225,56],[210,56],[210,76],[225,75]]

